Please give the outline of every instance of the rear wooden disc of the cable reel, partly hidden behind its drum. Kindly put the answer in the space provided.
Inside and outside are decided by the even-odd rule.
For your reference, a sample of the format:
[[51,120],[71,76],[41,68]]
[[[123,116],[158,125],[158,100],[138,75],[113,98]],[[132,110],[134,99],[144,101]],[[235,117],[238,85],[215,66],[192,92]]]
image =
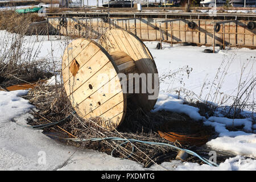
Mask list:
[[[121,29],[112,29],[101,36],[98,43],[106,49],[111,55],[112,52],[125,52],[134,61],[138,69],[138,73],[158,73],[156,69],[155,61],[148,51],[147,47],[144,45],[141,39],[132,34],[129,31]],[[155,75],[153,75],[155,76]],[[157,78],[158,76],[157,76]],[[154,80],[154,79],[152,79]],[[154,81],[152,82],[152,88],[154,88]],[[159,85],[156,85],[159,93]],[[158,94],[154,100],[148,100],[149,93],[139,93],[134,94],[133,102],[142,107],[145,111],[150,111],[157,100]]]

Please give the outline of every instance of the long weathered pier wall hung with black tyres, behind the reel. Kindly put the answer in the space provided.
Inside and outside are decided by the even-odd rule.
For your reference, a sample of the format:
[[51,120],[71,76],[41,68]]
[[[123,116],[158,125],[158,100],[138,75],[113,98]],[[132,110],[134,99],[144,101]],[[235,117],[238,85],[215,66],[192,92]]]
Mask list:
[[[249,28],[256,15],[241,13],[171,13],[171,12],[69,12],[48,13],[48,22],[59,34],[97,39],[104,32],[121,28],[143,41],[193,43],[212,46],[256,48],[256,28]],[[214,30],[216,27],[217,30]]]

